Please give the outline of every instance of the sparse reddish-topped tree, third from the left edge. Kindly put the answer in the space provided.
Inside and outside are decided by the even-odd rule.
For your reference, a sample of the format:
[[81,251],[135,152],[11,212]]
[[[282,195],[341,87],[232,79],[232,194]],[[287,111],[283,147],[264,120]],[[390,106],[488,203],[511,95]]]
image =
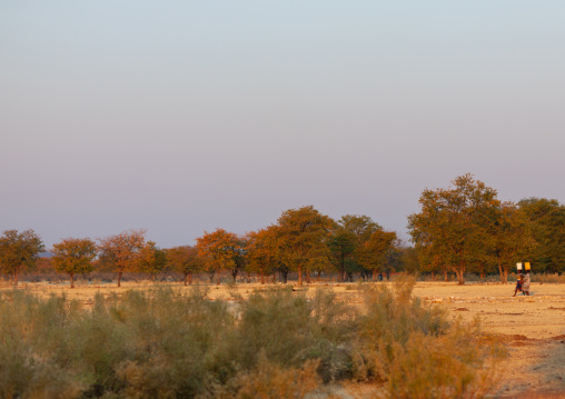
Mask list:
[[121,276],[125,271],[136,270],[146,243],[146,230],[131,229],[116,236],[100,239],[100,265],[118,273],[118,287],[121,287]]

